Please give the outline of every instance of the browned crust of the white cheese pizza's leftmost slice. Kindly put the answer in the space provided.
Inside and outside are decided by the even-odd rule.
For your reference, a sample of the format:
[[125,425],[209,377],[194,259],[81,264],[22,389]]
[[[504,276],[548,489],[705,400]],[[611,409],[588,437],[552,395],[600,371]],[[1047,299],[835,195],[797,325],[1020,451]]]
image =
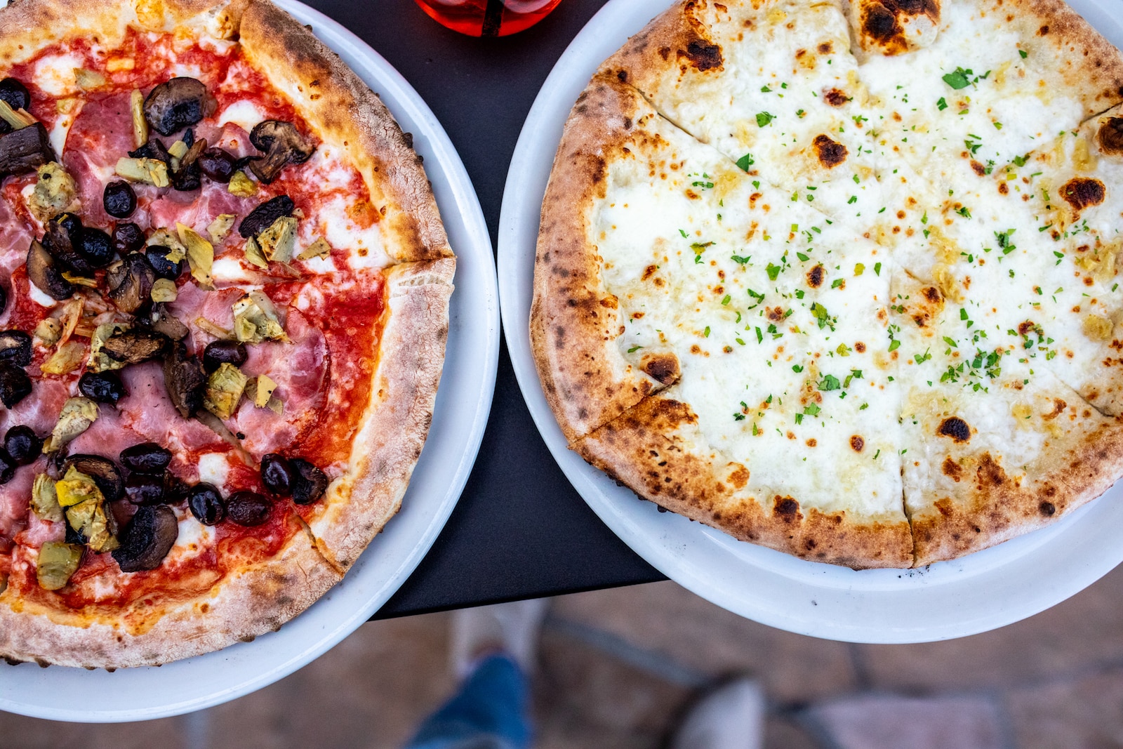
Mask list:
[[[570,441],[670,382],[634,368],[617,346],[623,321],[588,228],[608,165],[645,113],[654,115],[632,89],[594,79],[566,121],[542,201],[530,342],[546,400]],[[656,374],[667,380],[664,367]]]

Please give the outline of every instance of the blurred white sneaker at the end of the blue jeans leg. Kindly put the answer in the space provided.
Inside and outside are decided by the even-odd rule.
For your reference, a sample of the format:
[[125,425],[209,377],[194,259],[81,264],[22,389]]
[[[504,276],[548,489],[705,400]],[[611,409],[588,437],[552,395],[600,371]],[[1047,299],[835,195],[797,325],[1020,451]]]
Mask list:
[[453,673],[463,679],[481,657],[501,651],[514,658],[524,674],[532,674],[538,659],[538,632],[549,603],[549,599],[531,599],[454,611],[449,654]]

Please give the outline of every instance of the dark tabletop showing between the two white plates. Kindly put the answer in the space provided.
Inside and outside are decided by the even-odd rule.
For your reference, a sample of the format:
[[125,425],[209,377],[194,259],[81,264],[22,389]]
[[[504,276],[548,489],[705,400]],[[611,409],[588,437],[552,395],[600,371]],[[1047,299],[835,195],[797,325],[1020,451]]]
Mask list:
[[[412,0],[304,0],[362,37],[445,126],[492,246],[522,122],[554,63],[604,0],[563,0],[537,26],[477,39]],[[663,579],[593,514],[550,457],[504,346],[480,457],[437,542],[375,618]]]

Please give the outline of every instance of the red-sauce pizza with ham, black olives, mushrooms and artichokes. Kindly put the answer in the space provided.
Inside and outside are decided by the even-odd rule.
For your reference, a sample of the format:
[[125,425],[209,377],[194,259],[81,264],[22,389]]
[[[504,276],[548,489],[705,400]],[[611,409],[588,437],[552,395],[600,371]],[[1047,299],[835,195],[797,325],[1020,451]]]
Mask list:
[[0,9],[0,656],[168,663],[339,582],[454,268],[410,136],[267,0]]

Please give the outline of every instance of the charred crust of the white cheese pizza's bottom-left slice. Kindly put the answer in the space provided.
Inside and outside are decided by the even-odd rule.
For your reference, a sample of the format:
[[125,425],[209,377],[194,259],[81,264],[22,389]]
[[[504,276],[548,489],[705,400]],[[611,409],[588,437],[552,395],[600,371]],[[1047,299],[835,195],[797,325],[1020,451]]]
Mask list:
[[659,394],[575,441],[578,455],[640,496],[733,538],[853,568],[909,567],[903,515],[857,518],[758,495],[750,471],[710,448],[690,405]]

